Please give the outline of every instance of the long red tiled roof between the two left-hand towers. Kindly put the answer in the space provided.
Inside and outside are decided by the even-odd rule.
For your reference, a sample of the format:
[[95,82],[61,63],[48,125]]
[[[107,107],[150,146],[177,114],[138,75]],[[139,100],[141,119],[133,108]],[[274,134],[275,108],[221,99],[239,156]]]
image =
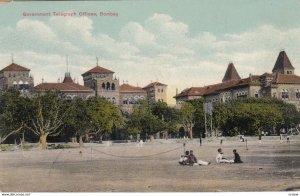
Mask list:
[[92,93],[93,89],[81,86],[76,83],[42,83],[34,87],[40,91],[61,91],[61,92],[78,92],[78,93]]

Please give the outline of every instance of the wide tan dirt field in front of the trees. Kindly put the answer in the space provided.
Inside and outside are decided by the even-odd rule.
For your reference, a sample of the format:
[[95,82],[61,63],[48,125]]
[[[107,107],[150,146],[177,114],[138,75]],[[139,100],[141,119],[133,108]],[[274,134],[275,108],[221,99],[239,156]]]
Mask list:
[[[82,149],[0,152],[3,192],[247,192],[300,190],[300,137],[290,145],[276,138],[246,143],[194,140],[186,149],[209,166],[180,166],[183,140],[128,144],[85,144]],[[243,164],[217,164],[217,148]],[[80,153],[80,151],[82,153]]]

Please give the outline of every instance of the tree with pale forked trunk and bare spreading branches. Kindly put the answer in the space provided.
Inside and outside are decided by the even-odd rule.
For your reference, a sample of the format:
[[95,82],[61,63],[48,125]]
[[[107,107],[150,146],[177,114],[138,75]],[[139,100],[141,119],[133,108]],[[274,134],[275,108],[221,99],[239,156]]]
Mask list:
[[47,137],[57,136],[68,112],[65,100],[57,93],[38,94],[32,99],[32,120],[28,128],[40,137],[42,149],[47,148]]

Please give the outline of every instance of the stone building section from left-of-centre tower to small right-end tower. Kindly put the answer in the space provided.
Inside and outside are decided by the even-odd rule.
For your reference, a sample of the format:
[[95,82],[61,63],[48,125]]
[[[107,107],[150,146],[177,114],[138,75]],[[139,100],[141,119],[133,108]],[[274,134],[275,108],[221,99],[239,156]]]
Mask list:
[[126,112],[130,112],[133,104],[139,100],[166,101],[167,85],[159,82],[151,83],[144,88],[129,84],[120,85],[113,71],[99,65],[83,73],[82,77],[84,86],[94,89],[96,96],[106,98],[113,104],[121,106]]

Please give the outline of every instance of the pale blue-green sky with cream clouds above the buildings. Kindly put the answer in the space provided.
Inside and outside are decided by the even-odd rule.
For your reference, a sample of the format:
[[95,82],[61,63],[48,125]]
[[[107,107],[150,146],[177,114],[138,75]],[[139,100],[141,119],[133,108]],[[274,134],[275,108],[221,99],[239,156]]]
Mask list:
[[[23,13],[50,16],[23,16]],[[54,16],[75,12],[77,16]],[[83,12],[98,16],[79,16]],[[100,12],[118,16],[100,16]],[[176,88],[221,82],[229,62],[241,77],[271,72],[284,49],[300,73],[299,0],[128,0],[0,4],[0,69],[14,62],[31,69],[35,85],[96,65],[120,84]]]

